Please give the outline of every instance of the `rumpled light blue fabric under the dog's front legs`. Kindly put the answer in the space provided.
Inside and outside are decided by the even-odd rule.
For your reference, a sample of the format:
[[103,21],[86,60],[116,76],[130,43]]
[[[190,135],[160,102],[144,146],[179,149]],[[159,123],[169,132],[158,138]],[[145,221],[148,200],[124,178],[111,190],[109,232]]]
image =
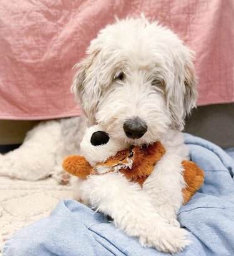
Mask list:
[[[234,160],[207,140],[185,134],[190,157],[205,170],[205,183],[181,207],[178,220],[192,244],[177,255],[234,255]],[[16,232],[2,256],[169,255],[141,247],[106,217],[75,200],[62,200],[46,219]]]

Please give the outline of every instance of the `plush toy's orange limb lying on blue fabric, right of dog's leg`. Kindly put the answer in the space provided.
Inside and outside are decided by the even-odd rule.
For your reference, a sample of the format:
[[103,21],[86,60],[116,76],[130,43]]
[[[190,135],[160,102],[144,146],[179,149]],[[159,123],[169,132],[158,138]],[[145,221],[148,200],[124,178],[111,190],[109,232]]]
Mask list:
[[182,190],[184,204],[192,197],[195,192],[202,187],[204,182],[204,172],[192,161],[184,160],[182,162],[183,168],[183,179],[187,184],[187,187]]

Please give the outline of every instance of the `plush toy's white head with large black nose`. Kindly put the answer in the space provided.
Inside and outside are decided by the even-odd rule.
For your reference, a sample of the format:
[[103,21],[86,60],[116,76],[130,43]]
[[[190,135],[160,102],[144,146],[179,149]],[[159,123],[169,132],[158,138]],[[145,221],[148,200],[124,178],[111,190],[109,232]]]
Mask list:
[[110,156],[115,155],[119,150],[128,147],[117,139],[109,137],[101,126],[87,128],[84,138],[80,143],[80,150],[90,165],[97,162],[104,162]]

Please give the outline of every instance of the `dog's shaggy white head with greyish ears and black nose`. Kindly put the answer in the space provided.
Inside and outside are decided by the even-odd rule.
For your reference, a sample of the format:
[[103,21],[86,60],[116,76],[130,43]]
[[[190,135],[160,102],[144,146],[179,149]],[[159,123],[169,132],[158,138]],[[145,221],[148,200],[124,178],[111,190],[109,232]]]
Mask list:
[[90,124],[130,144],[182,130],[197,100],[193,52],[165,27],[144,17],[99,32],[76,67],[72,91]]

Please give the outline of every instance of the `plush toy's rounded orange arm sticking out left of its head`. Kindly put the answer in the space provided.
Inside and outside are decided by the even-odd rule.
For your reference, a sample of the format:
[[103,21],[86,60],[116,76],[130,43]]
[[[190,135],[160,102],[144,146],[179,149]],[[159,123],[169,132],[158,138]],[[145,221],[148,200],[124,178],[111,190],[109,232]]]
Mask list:
[[92,171],[92,166],[80,155],[69,155],[62,164],[64,170],[74,176],[85,179]]

